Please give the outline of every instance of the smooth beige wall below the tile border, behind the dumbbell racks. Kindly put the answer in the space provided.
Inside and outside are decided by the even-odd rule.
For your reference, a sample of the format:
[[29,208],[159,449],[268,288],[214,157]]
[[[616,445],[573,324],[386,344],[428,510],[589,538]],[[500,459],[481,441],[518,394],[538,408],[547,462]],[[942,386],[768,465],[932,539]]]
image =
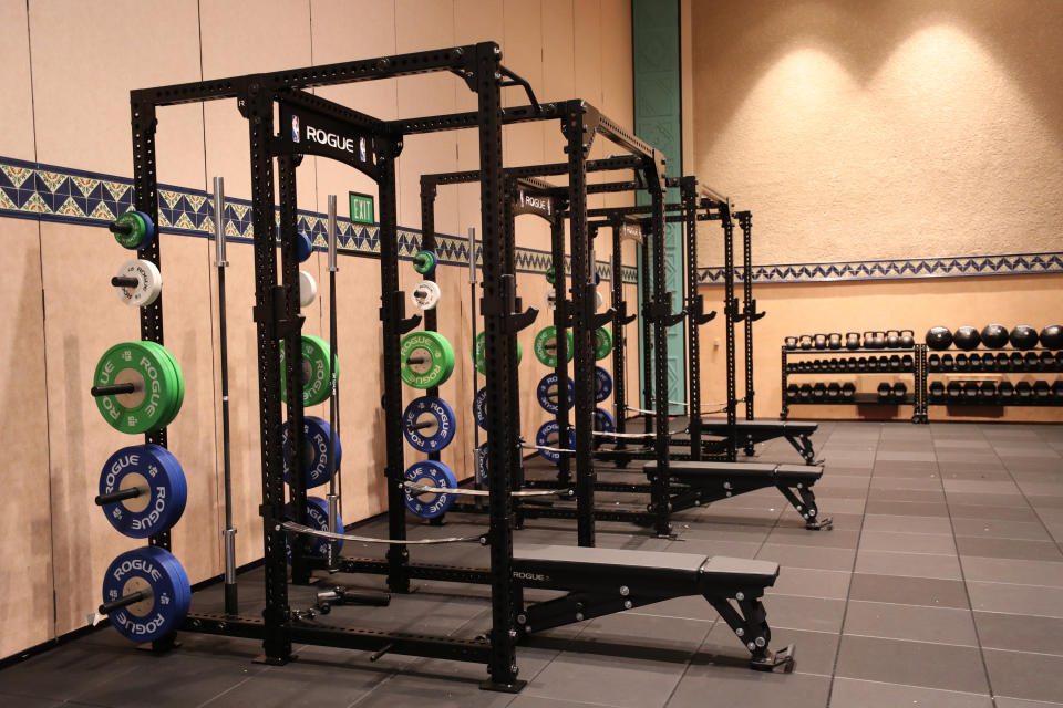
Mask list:
[[[767,315],[754,326],[754,389],[757,417],[773,418],[782,407],[780,347],[788,334],[815,332],[845,332],[870,329],[910,327],[916,341],[922,342],[931,326],[945,325],[954,331],[964,324],[981,330],[990,322],[1012,327],[1030,324],[1040,331],[1046,324],[1059,323],[1059,293],[1063,275],[1009,275],[997,278],[941,278],[927,280],[892,280],[883,282],[840,282],[824,284],[757,285],[757,306]],[[705,300],[720,309],[723,289],[703,287]],[[741,295],[740,295],[741,296]],[[724,327],[718,317],[702,327],[702,397],[723,400],[726,397],[722,345]],[[721,346],[713,346],[719,339]],[[743,381],[742,334],[737,339],[739,381]],[[945,374],[931,375],[931,381],[945,379]],[[997,377],[984,374],[985,377]],[[1052,379],[1051,374],[1009,374],[1010,381]],[[873,376],[849,374],[829,377],[815,374],[793,376],[791,382],[853,381],[857,391],[875,391],[881,381],[904,381],[911,387],[910,376]],[[743,386],[740,384],[739,395]],[[744,408],[741,409],[744,413]],[[818,417],[880,417],[892,413],[883,406],[794,406],[794,418]],[[961,409],[962,410],[962,409]],[[966,413],[974,413],[967,409]],[[1060,408],[1005,407],[982,408],[980,415],[1004,420],[1063,420]],[[899,417],[911,416],[911,407],[901,406]],[[947,415],[942,406],[930,407],[931,419],[960,419]]]

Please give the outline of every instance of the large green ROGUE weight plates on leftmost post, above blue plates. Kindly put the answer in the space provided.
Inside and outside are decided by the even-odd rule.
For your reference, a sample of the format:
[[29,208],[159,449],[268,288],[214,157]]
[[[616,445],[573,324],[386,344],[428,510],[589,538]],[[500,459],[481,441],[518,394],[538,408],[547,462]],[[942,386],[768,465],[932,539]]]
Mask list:
[[93,386],[133,383],[132,394],[100,396],[96,407],[115,430],[138,434],[166,425],[174,410],[178,382],[169,361],[144,342],[115,344],[100,357],[92,377]]

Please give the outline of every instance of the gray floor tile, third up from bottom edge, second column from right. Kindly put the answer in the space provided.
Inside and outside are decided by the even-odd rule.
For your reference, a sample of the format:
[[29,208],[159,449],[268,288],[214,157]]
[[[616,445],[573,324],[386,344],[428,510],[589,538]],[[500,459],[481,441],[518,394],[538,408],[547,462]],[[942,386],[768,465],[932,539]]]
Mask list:
[[845,634],[978,646],[969,610],[849,601]]

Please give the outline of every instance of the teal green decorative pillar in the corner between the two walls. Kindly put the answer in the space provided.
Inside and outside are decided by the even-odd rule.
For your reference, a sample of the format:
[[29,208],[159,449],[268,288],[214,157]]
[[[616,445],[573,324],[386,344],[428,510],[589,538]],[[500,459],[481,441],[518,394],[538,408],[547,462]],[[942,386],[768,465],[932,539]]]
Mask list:
[[[682,135],[682,81],[680,59],[680,0],[632,0],[631,44],[632,76],[634,84],[634,132],[664,153],[669,177],[683,174]],[[679,190],[670,189],[669,201],[679,200]],[[649,197],[640,194],[638,204],[649,204]],[[673,295],[673,309],[682,308],[683,293],[683,236],[681,225],[665,227],[665,281]],[[639,279],[649,272],[648,263],[639,262]],[[641,312],[641,287],[639,289]],[[641,334],[640,334],[641,336]],[[651,343],[639,346],[639,372]],[[668,384],[670,400],[687,400],[687,362],[683,327],[674,326],[668,334]],[[641,392],[641,386],[639,387]],[[642,407],[651,407],[642,400]],[[675,413],[677,410],[673,410]],[[683,410],[678,409],[679,413]]]

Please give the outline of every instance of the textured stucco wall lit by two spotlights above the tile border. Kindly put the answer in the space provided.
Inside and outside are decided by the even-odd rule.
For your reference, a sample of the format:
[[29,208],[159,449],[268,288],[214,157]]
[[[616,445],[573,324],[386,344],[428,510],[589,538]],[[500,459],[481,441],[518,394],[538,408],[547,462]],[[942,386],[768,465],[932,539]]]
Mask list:
[[757,263],[1063,250],[1059,0],[692,0],[691,33],[692,167]]

